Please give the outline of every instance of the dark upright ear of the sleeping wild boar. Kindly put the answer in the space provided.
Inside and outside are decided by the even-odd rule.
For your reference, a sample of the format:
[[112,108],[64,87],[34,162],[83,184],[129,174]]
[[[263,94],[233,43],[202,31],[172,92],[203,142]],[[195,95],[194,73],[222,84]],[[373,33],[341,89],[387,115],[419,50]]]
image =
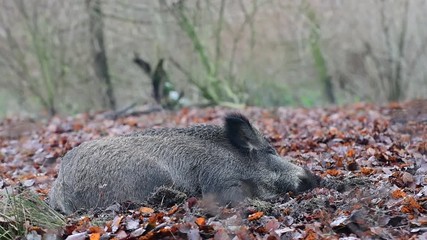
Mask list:
[[225,117],[225,133],[231,144],[245,150],[258,150],[263,146],[263,139],[249,120],[241,114],[232,113]]

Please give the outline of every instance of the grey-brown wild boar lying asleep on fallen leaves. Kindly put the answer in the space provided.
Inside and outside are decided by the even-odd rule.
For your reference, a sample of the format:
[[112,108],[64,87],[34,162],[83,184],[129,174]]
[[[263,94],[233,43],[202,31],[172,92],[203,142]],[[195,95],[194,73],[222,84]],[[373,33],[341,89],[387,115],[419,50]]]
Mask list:
[[318,184],[317,176],[281,158],[247,118],[233,113],[224,126],[149,129],[82,143],[62,158],[49,203],[71,213],[143,202],[170,187],[234,205]]

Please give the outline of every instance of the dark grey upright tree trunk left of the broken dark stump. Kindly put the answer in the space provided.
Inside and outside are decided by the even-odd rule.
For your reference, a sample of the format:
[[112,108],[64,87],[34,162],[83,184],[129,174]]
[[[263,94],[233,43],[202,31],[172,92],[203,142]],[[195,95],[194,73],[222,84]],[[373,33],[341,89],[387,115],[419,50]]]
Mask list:
[[104,108],[115,109],[113,84],[108,69],[107,53],[104,44],[104,22],[101,9],[101,0],[86,0],[89,14],[90,44],[93,56],[93,68],[96,77],[101,82],[102,104]]

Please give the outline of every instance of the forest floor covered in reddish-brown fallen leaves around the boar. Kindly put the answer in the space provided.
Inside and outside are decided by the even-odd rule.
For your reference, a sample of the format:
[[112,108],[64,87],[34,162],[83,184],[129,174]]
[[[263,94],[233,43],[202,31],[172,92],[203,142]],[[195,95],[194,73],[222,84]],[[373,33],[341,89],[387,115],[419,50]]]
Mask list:
[[[0,122],[0,236],[74,240],[427,239],[426,106],[425,101],[414,101],[314,109],[249,107],[240,111],[281,156],[291,157],[325,179],[349,185],[342,189],[316,188],[277,202],[248,201],[235,208],[212,207],[190,197],[172,207],[122,204],[108,211],[70,216],[56,215],[43,201],[33,199],[28,204],[17,199],[32,199],[29,192],[46,199],[60,157],[73,147],[150,127],[222,124],[222,117],[233,110],[185,108],[116,120],[105,113],[43,122],[4,119]],[[362,181],[351,184],[349,179]],[[18,208],[17,203],[21,204]],[[34,208],[55,215],[59,223],[51,225],[53,220],[32,217]]]

